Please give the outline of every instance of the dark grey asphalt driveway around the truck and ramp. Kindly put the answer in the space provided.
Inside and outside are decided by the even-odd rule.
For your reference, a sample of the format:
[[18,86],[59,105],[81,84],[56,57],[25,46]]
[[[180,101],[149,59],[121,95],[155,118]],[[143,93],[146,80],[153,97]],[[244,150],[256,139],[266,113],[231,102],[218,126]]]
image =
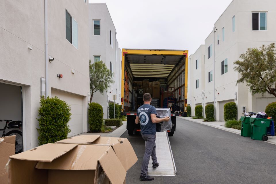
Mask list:
[[275,183],[276,145],[180,118],[176,127],[170,143],[177,176],[155,176],[154,181],[139,181],[142,137],[127,132],[121,136],[129,139],[138,157],[127,172],[127,183]]

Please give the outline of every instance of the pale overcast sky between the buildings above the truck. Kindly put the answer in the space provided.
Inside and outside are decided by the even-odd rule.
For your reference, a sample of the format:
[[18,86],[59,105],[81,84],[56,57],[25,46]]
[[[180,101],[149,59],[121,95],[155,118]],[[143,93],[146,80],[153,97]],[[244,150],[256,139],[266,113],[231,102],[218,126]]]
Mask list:
[[106,3],[119,47],[193,54],[232,0],[89,0]]

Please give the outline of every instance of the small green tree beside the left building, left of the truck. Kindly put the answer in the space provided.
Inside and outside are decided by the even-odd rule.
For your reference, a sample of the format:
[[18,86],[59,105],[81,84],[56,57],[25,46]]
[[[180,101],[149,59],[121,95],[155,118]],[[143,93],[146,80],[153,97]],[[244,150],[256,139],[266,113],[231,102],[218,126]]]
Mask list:
[[91,64],[91,60],[89,60],[90,64],[90,103],[93,98],[93,93],[99,91],[101,94],[107,92],[108,88],[111,84],[114,83],[112,80],[113,73],[106,67],[102,61],[95,62]]

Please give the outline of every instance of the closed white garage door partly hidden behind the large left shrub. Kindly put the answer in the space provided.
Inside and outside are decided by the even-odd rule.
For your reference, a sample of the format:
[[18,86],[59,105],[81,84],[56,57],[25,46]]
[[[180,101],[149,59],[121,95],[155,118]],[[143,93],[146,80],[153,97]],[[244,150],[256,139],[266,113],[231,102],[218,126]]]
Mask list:
[[61,100],[66,101],[71,107],[72,116],[69,121],[71,132],[68,137],[83,133],[83,97],[55,89],[51,90],[51,96],[57,96]]

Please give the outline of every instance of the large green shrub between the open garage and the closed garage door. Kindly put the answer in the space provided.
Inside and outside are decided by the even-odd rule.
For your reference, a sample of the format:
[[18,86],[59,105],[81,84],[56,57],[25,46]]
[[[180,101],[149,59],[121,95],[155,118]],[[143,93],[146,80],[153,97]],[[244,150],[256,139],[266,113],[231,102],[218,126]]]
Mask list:
[[68,133],[71,132],[68,124],[72,115],[70,110],[70,105],[58,97],[40,99],[38,109],[40,118],[37,118],[39,145],[55,143],[67,138]]

